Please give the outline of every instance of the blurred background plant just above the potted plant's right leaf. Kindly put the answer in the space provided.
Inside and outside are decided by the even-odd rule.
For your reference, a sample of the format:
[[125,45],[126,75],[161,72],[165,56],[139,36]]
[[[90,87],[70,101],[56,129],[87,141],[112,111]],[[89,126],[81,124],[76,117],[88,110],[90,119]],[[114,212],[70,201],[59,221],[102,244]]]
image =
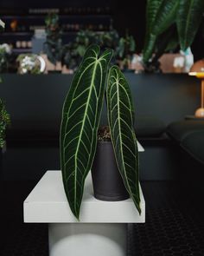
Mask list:
[[120,37],[117,48],[117,58],[120,69],[129,69],[131,65],[131,58],[135,51],[136,43],[133,36],[126,33],[126,36]]

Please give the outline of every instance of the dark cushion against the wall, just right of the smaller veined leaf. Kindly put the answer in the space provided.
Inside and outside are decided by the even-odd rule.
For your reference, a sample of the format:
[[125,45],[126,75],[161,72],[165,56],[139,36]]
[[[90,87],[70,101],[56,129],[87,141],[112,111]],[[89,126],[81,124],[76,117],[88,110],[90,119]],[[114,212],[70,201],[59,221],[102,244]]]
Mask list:
[[154,116],[138,116],[135,123],[137,137],[158,137],[165,131],[165,124]]

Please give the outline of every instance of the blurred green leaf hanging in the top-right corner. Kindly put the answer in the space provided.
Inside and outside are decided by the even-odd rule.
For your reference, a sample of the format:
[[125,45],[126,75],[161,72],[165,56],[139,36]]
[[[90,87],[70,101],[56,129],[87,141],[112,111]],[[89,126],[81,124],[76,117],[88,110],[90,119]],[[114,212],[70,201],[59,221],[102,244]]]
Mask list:
[[180,0],[176,23],[180,46],[183,50],[193,43],[203,11],[203,0]]

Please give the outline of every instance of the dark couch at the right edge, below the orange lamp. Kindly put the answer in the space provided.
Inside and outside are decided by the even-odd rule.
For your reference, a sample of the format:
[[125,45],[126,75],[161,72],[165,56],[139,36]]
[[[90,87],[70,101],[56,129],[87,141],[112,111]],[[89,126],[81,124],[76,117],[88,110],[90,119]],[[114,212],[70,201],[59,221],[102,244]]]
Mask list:
[[179,178],[182,185],[204,192],[204,120],[176,121],[169,125],[167,134],[175,142],[179,156]]

